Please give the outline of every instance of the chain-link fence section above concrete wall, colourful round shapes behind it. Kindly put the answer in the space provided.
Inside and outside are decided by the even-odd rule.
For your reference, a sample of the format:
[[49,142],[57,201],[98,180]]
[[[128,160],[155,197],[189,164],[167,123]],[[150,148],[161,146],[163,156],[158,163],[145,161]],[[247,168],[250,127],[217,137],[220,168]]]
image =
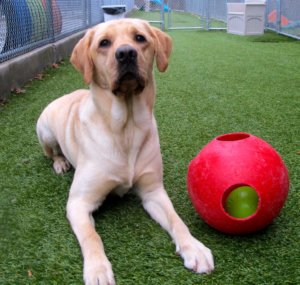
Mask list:
[[0,62],[103,21],[99,0],[0,0]]

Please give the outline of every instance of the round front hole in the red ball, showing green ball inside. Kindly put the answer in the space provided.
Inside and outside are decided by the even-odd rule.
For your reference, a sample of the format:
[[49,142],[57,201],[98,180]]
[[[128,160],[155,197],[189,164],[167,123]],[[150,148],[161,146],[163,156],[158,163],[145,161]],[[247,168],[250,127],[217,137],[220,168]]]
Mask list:
[[230,187],[224,192],[222,199],[224,211],[234,219],[249,219],[257,213],[259,207],[256,190],[245,184]]

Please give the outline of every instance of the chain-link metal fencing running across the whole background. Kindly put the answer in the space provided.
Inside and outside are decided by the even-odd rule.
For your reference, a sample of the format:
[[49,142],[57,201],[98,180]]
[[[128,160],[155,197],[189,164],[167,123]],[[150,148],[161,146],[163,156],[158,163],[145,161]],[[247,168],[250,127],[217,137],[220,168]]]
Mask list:
[[[162,28],[226,29],[227,2],[244,0],[0,0],[0,63],[102,22],[102,5]],[[266,28],[300,39],[300,0],[267,0]]]

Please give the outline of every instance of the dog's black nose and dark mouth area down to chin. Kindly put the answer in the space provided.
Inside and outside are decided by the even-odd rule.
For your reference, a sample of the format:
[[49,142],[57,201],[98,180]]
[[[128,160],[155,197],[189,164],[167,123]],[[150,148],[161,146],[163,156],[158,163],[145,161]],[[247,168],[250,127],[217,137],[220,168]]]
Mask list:
[[144,90],[145,80],[138,70],[138,52],[130,45],[123,45],[116,50],[118,77],[113,93],[120,95],[137,95]]

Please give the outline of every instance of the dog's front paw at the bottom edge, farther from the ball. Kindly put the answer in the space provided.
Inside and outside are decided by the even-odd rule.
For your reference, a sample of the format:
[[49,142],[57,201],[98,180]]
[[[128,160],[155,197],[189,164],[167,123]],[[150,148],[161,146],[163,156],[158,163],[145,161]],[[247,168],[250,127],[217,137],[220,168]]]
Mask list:
[[115,285],[110,262],[85,262],[84,283],[85,285]]

